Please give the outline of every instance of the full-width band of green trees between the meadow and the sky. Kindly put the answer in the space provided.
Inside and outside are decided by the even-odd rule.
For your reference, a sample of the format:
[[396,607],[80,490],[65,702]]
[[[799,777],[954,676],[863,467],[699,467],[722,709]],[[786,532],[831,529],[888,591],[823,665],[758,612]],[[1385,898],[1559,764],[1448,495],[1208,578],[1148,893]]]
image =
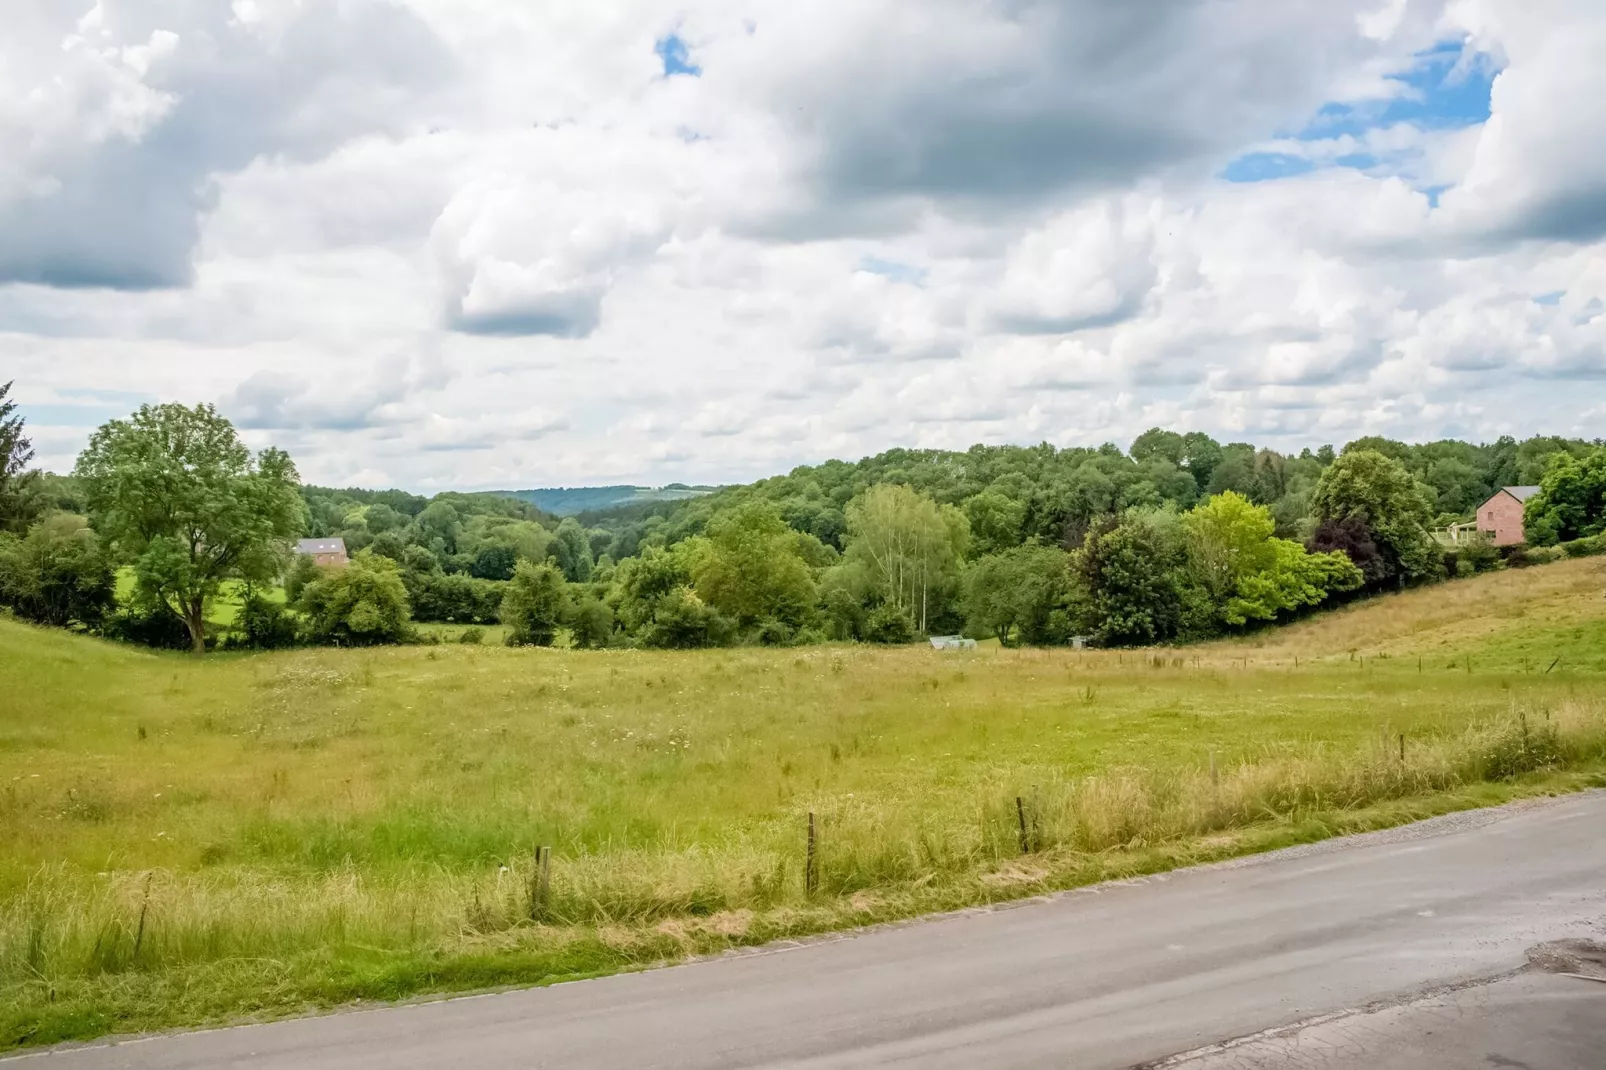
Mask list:
[[[434,620],[581,647],[1169,643],[1500,567],[1487,545],[1434,537],[1500,485],[1540,485],[1535,545],[1593,551],[1606,524],[1600,442],[1360,439],[1290,456],[1163,429],[1129,450],[890,450],[559,521],[498,495],[302,485],[286,453],[252,453],[206,405],[143,406],[100,427],[71,476],[43,474],[8,390],[0,602],[198,652],[418,641],[414,622]],[[318,569],[291,553],[297,537],[340,537],[352,564]],[[241,609],[220,631],[225,585]]]

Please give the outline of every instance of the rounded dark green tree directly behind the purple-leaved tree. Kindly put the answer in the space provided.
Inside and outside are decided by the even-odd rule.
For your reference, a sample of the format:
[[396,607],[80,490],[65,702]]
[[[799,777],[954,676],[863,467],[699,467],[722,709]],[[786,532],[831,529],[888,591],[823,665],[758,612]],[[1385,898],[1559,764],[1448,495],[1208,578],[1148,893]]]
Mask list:
[[[1433,508],[1421,484],[1404,464],[1378,450],[1346,448],[1317,480],[1310,511],[1319,524],[1359,521],[1396,583],[1425,580],[1441,567],[1428,533]],[[1365,562],[1355,562],[1365,567]]]

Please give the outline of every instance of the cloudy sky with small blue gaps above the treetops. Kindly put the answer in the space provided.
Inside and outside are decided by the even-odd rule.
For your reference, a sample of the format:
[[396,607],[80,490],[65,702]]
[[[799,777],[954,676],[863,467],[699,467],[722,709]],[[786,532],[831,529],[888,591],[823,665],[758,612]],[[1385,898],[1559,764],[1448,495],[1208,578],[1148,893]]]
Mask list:
[[39,463],[304,479],[1606,434],[1600,0],[8,0]]

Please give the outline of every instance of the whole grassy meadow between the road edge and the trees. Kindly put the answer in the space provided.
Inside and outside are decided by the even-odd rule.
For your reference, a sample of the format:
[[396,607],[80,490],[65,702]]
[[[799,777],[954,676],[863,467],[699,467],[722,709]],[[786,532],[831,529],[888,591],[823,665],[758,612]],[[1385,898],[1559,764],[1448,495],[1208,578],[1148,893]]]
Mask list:
[[1567,561],[1135,652],[196,660],[0,620],[0,1048],[541,983],[1606,784],[1603,591]]

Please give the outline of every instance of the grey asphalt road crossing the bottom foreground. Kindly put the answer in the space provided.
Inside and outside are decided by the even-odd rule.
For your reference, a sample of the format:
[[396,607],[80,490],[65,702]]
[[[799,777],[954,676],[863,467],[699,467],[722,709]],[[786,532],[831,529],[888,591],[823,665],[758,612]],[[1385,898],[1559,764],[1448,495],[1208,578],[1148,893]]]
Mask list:
[[[1563,938],[1606,940],[1601,792],[673,969],[27,1059],[1600,1070],[1606,983],[1524,969]],[[1484,1033],[1447,1028],[1457,1015]]]

